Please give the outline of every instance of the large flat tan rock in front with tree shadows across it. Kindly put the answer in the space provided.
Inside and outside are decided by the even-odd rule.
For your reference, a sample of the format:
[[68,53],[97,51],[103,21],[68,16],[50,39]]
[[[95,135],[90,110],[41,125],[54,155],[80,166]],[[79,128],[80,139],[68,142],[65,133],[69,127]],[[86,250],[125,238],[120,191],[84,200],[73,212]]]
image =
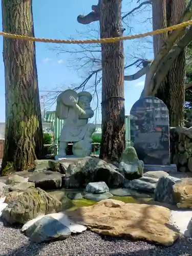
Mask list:
[[74,222],[105,236],[132,237],[171,246],[180,234],[169,222],[170,210],[157,205],[125,204],[108,199],[68,211],[67,215]]

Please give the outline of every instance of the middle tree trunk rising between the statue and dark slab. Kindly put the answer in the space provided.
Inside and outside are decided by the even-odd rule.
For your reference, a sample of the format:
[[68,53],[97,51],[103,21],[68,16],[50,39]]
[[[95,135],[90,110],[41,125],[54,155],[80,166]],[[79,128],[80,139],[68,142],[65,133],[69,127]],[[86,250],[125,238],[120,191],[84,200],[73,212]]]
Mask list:
[[[122,0],[99,0],[100,37],[122,36]],[[102,140],[100,158],[118,161],[125,146],[123,42],[101,44]]]

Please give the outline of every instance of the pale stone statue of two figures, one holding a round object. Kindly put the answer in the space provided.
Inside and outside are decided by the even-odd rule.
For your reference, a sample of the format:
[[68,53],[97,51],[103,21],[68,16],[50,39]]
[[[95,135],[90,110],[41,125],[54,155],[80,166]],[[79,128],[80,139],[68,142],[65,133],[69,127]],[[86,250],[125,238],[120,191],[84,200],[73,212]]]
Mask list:
[[66,158],[66,148],[73,142],[73,157],[86,157],[92,153],[92,134],[96,125],[88,123],[94,116],[89,92],[66,90],[57,97],[56,116],[64,119],[59,139],[59,152],[55,159]]

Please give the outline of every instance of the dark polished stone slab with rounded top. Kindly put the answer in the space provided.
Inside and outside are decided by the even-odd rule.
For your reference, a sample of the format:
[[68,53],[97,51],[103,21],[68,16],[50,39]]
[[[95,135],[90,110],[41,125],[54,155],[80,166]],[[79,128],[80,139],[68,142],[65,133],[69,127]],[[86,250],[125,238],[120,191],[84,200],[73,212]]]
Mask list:
[[169,115],[156,97],[144,97],[130,111],[131,141],[144,164],[170,164]]

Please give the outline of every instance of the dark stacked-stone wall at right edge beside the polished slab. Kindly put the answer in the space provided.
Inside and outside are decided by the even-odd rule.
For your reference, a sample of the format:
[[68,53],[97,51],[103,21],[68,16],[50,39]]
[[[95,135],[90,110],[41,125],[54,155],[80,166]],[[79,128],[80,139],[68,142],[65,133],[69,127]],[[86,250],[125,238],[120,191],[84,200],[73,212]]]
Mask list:
[[192,172],[192,127],[170,128],[170,159],[179,172]]

